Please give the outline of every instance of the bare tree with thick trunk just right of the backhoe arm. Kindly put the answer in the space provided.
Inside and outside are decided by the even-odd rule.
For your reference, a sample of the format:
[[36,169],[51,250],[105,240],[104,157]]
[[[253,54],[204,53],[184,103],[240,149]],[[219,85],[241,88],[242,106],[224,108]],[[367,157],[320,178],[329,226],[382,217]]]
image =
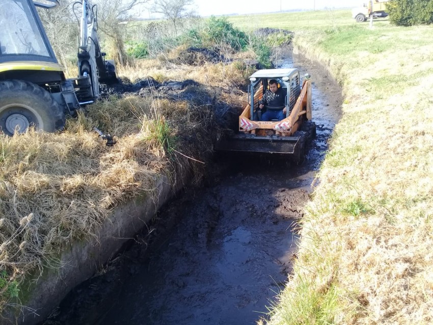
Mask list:
[[99,29],[112,41],[111,57],[121,65],[126,63],[123,41],[124,22],[134,17],[134,7],[149,0],[96,0]]

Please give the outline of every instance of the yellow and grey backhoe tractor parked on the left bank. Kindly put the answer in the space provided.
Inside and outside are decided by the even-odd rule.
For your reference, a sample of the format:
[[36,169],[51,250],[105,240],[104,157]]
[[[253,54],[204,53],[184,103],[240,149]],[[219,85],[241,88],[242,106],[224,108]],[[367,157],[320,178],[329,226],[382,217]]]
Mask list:
[[80,12],[79,74],[66,79],[36,10],[58,5],[58,0],[1,1],[0,132],[63,129],[67,115],[99,97],[99,82],[117,81],[114,62],[100,50],[97,7],[87,0],[74,4],[74,13]]

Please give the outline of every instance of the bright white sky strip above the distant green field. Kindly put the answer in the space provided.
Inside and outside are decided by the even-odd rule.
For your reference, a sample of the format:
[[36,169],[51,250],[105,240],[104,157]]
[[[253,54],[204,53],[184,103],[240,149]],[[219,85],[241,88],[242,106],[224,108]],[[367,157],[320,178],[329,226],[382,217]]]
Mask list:
[[[325,8],[352,8],[367,0],[194,0],[195,11],[202,17],[229,14],[252,14],[286,10],[320,10]],[[147,17],[149,18],[149,17]]]

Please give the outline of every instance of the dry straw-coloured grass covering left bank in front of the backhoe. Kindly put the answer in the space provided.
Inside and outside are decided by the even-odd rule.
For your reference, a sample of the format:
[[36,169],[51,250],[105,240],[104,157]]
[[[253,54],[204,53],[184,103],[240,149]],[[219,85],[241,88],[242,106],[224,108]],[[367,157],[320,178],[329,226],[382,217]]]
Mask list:
[[[93,126],[118,143],[105,146]],[[91,105],[64,132],[0,136],[0,309],[65,242],[94,235],[120,203],[156,195],[161,173],[199,179],[203,164],[186,156],[208,161],[216,127],[212,107],[129,96]]]

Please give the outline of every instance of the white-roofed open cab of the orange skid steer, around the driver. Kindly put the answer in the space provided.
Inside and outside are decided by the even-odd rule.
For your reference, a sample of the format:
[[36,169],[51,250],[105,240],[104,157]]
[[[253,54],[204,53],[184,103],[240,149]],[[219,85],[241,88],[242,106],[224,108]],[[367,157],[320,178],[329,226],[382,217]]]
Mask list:
[[[248,98],[253,120],[259,120],[259,100],[268,89],[271,79],[277,80],[279,88],[284,92],[284,104],[286,106],[286,117],[289,116],[297,97],[301,92],[300,75],[297,69],[264,69],[250,76]],[[280,90],[280,91],[281,91]]]

